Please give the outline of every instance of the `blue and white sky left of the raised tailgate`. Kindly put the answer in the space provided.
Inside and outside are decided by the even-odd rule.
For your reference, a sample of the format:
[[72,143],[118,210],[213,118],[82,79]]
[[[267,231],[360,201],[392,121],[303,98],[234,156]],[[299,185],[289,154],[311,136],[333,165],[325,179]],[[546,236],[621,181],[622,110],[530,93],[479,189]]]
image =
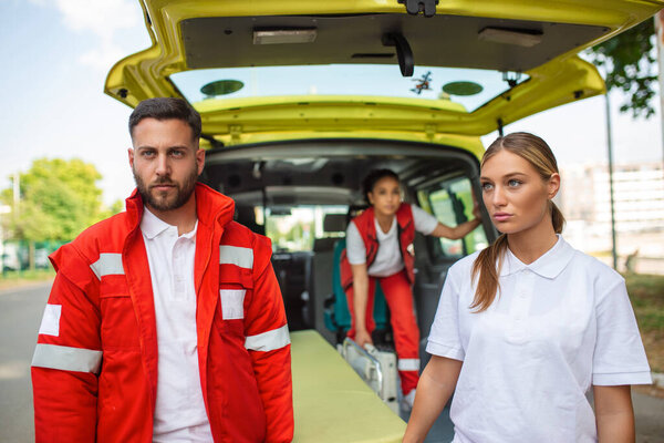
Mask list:
[[0,0],[0,187],[40,157],[79,157],[128,196],[131,109],[103,93],[114,62],[148,48],[138,1]]

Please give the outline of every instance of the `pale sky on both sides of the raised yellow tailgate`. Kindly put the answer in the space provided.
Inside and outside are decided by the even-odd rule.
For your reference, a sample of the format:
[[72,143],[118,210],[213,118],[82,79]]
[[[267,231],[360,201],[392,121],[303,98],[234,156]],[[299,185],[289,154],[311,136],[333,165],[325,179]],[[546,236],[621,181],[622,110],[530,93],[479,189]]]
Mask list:
[[[149,47],[137,0],[0,0],[0,188],[41,157],[82,158],[104,177],[104,202],[124,199],[131,109],[103,93],[123,56]],[[660,102],[650,120],[620,114],[611,94],[614,161],[662,161]],[[543,137],[562,168],[606,159],[604,97],[563,105],[505,127]],[[483,137],[488,145],[496,133]]]

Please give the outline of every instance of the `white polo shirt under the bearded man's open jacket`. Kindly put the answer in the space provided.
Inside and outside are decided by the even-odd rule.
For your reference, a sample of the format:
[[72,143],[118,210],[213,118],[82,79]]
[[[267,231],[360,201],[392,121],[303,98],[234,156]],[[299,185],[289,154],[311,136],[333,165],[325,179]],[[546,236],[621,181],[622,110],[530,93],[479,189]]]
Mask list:
[[196,229],[177,227],[147,208],[141,230],[147,250],[157,322],[158,378],[153,442],[211,442],[196,338]]

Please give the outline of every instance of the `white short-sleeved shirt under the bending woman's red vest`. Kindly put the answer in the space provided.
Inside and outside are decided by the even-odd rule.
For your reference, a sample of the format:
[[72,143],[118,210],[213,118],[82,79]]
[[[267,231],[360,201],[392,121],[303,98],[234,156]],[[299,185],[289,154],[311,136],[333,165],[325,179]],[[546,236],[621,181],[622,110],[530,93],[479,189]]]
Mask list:
[[[411,205],[413,210],[413,223],[415,230],[424,235],[429,235],[436,229],[438,219],[424,209]],[[398,233],[396,229],[396,217],[392,220],[392,226],[387,233],[383,233],[378,222],[374,217],[376,226],[376,239],[378,240],[378,251],[374,261],[371,264],[366,274],[372,277],[390,277],[404,268],[398,248]],[[351,265],[362,265],[366,262],[366,248],[357,230],[355,223],[351,222],[346,229],[346,255]]]

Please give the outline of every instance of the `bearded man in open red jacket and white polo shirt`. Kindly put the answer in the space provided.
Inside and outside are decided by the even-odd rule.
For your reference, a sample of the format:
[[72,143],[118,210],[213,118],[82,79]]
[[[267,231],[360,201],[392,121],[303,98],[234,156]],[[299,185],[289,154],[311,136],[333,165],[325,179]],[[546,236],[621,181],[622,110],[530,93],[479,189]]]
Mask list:
[[51,256],[32,360],[37,442],[290,442],[290,339],[266,237],[197,183],[198,113],[129,117],[126,212]]

